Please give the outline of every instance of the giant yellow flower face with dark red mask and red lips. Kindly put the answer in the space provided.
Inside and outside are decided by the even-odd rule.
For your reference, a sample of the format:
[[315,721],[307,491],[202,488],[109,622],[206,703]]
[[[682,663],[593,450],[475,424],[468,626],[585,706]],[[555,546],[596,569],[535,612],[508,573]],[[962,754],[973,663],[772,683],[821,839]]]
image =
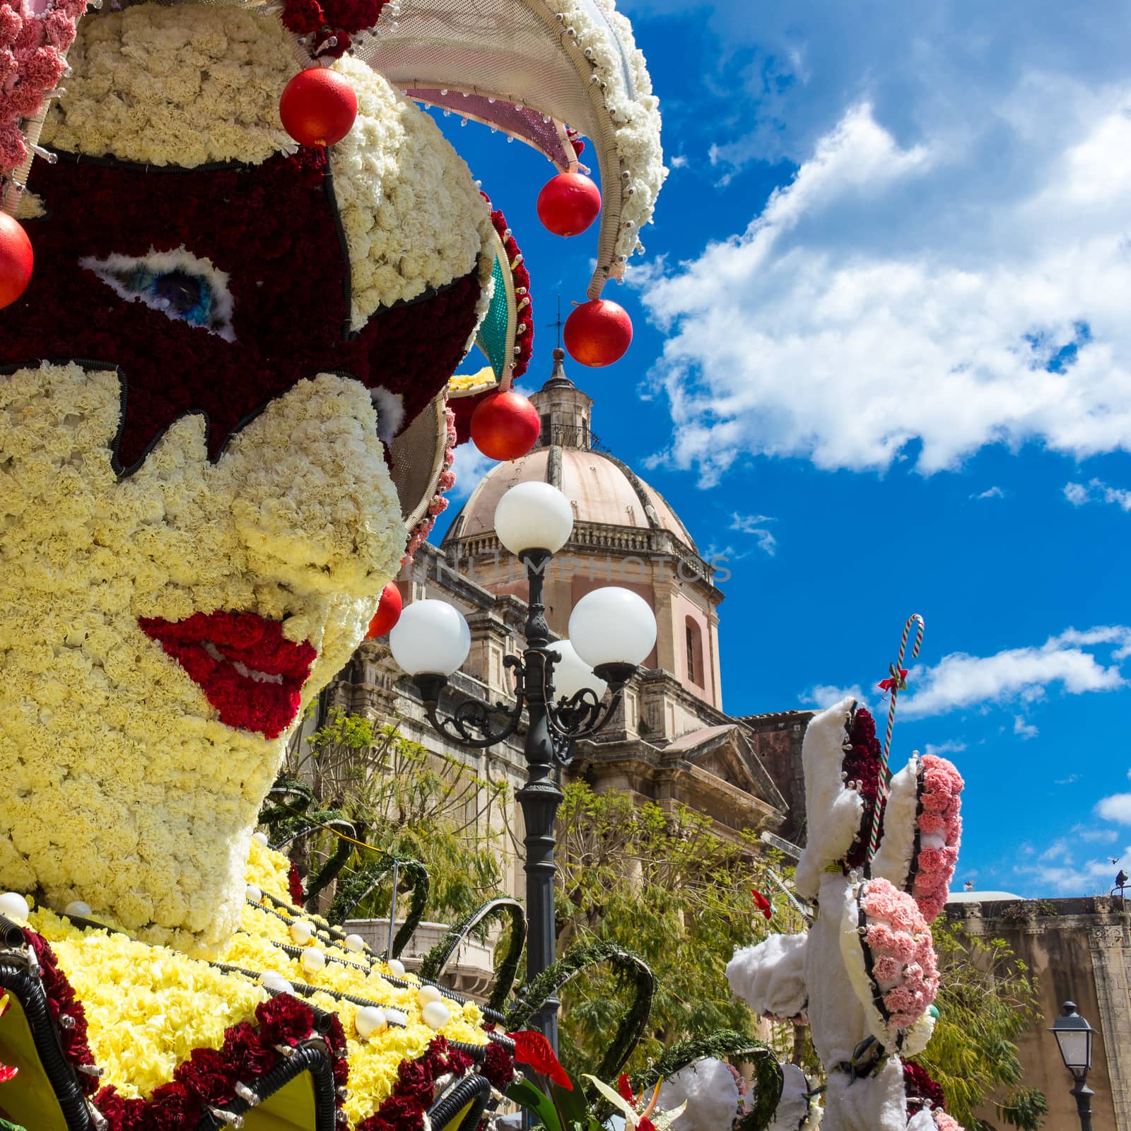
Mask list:
[[[0,313],[0,889],[216,949],[295,719],[404,553],[382,438],[451,372],[422,389],[426,355],[402,364],[380,319],[447,303],[461,345],[490,216],[431,120],[349,61],[331,180],[287,164],[274,17],[131,6],[84,19],[70,61],[36,278]],[[313,253],[271,191],[295,184]],[[311,267],[331,260],[348,286]]]

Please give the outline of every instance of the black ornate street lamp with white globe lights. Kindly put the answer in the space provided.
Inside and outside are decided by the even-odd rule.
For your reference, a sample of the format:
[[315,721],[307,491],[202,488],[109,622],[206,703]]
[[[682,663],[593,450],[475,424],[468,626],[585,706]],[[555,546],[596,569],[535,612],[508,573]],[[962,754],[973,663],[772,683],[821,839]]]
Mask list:
[[[468,699],[450,718],[439,717],[440,693],[470,646],[467,622],[442,601],[408,605],[389,633],[389,647],[392,658],[413,677],[429,723],[456,745],[473,750],[497,745],[517,733],[526,710],[527,777],[518,802],[526,822],[529,981],[555,957],[554,819],[562,792],[551,776],[553,766],[568,765],[573,743],[596,734],[612,717],[624,685],[656,642],[656,618],[642,597],[607,586],[586,594],[573,606],[570,639],[551,644],[543,581],[551,559],[573,529],[569,500],[549,483],[520,483],[499,500],[494,528],[499,541],[526,567],[529,582],[526,648],[521,656],[503,658],[504,666],[515,672],[515,702]],[[556,1050],[556,998],[546,1000],[538,1024]]]

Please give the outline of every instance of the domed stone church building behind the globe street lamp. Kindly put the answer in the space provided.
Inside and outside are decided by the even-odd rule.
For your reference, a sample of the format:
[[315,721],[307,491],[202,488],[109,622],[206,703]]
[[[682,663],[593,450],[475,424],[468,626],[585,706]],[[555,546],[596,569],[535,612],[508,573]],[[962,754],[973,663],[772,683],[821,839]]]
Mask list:
[[[709,817],[725,838],[746,830],[797,838],[804,811],[801,742],[812,715],[725,713],[719,563],[701,555],[657,491],[602,447],[592,429],[593,400],[566,375],[563,357],[554,351],[553,373],[530,398],[542,422],[534,450],[495,465],[441,544],[422,546],[398,579],[406,604],[423,597],[447,601],[470,627],[470,654],[449,681],[441,713],[468,697],[512,701],[503,658],[524,647],[527,582],[521,563],[495,536],[494,509],[518,483],[551,483],[573,508],[570,541],[545,573],[551,631],[564,637],[573,605],[604,585],[639,594],[657,623],[656,646],[642,672],[599,735],[577,744],[563,771],[567,779],[580,777],[596,792],[627,791],[661,806],[687,805]],[[495,819],[520,843],[523,818],[512,798],[526,776],[521,733],[489,751],[449,744],[429,726],[415,688],[383,640],[361,646],[333,685],[330,702],[396,722],[405,737],[464,761],[481,777],[506,782],[510,808]],[[516,858],[508,862],[508,886],[513,893],[523,890]]]

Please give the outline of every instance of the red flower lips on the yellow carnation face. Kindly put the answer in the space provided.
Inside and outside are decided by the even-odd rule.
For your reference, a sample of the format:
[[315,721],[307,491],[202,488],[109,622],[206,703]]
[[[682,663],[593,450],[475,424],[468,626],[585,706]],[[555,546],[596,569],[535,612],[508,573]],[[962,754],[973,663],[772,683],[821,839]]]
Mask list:
[[225,726],[277,739],[294,722],[318,653],[307,640],[284,639],[282,622],[215,612],[139,616],[138,625],[204,690]]

